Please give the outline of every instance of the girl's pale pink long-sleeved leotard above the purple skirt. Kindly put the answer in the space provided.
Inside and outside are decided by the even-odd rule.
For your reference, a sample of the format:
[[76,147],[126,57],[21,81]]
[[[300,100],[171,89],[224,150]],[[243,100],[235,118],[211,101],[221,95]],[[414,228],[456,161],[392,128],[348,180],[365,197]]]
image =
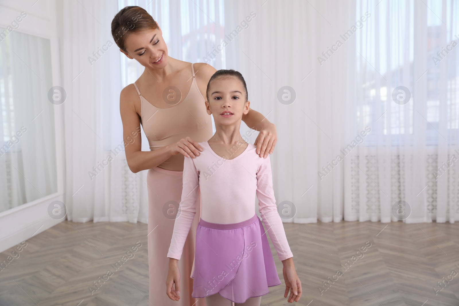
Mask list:
[[235,150],[220,157],[207,141],[199,145],[203,148],[199,156],[185,157],[182,197],[168,257],[179,260],[182,255],[196,213],[198,188],[201,190],[202,220],[220,224],[239,223],[253,217],[256,194],[260,217],[279,260],[293,257],[277,212],[269,155],[260,157],[257,147],[249,143],[240,155],[231,159]]

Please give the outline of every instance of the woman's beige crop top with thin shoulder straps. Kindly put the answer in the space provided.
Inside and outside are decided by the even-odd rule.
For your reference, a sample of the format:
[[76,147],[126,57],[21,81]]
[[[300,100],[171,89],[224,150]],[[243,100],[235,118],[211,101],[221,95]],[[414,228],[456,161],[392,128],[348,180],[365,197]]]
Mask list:
[[[195,71],[191,64],[192,82],[188,94],[174,106],[158,108],[148,102],[139,91],[140,123],[150,145],[150,150],[178,142],[187,136],[196,142],[209,140],[212,135],[212,120],[206,111],[205,99],[196,83]],[[182,153],[171,156],[158,167],[164,169],[183,169],[185,156]],[[179,166],[179,167],[177,167]]]

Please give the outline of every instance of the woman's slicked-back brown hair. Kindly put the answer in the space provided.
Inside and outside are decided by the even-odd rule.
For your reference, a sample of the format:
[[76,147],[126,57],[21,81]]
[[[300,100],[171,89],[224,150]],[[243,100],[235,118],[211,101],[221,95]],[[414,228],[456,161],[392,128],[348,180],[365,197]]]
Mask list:
[[113,17],[112,37],[121,50],[128,52],[126,38],[129,33],[156,30],[157,28],[158,24],[145,9],[140,6],[126,6]]

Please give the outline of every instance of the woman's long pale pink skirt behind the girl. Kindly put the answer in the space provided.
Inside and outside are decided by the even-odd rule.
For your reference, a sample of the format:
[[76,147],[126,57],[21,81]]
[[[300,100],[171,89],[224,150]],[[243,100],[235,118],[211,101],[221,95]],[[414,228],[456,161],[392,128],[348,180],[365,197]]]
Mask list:
[[[150,305],[161,306],[206,306],[203,298],[195,299],[193,291],[196,227],[201,218],[201,192],[196,200],[196,216],[185,242],[180,268],[180,300],[174,301],[166,295],[169,245],[174,232],[175,217],[182,196],[183,171],[171,171],[160,167],[148,170],[148,268],[150,275]],[[196,302],[196,304],[195,304]]]

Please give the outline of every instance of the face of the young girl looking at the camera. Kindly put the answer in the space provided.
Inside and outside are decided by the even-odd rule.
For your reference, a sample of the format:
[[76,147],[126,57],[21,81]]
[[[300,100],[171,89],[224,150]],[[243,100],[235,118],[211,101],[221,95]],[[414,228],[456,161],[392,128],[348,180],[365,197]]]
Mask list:
[[215,123],[231,125],[241,123],[242,115],[249,112],[250,101],[241,81],[235,77],[219,77],[210,83],[207,113],[213,114]]

